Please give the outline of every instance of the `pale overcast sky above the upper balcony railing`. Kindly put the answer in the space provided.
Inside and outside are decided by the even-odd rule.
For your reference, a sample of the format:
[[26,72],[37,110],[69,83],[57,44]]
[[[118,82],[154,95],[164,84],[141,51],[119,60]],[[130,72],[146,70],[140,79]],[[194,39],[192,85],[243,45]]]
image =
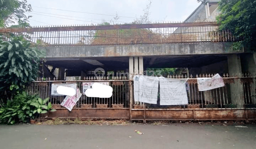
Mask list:
[[[28,0],[31,26],[99,24],[117,14],[118,24],[143,15],[149,0]],[[151,0],[151,22],[184,21],[200,4],[197,0]],[[59,9],[59,10],[58,10]],[[76,11],[76,12],[74,12]]]

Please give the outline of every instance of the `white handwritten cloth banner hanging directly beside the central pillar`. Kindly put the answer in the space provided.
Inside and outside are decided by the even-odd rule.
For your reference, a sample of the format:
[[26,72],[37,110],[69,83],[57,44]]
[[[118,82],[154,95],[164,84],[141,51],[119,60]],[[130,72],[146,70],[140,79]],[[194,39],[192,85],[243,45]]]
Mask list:
[[157,104],[158,77],[136,75],[133,80],[134,101]]

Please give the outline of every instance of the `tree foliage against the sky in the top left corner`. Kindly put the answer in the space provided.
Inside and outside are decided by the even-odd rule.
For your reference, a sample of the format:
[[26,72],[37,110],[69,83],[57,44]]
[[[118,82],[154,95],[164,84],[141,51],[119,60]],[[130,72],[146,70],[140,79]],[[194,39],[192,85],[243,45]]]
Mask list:
[[25,12],[32,10],[27,0],[0,0],[0,27],[8,27],[17,21],[14,27],[28,27],[28,18]]

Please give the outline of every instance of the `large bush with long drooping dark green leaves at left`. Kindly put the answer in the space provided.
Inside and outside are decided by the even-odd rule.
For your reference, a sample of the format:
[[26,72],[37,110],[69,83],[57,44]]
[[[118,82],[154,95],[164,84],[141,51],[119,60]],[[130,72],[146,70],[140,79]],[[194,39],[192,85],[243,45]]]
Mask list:
[[17,92],[37,78],[39,57],[30,42],[15,37],[10,42],[0,41],[0,99],[11,100]]

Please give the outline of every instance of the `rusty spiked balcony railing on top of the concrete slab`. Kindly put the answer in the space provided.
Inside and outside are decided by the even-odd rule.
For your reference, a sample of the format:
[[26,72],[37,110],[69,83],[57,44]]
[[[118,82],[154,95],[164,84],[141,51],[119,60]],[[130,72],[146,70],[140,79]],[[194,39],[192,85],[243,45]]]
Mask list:
[[219,31],[216,22],[153,23],[97,26],[44,26],[1,28],[0,36],[23,35],[37,46],[113,45],[195,42],[234,42],[241,40],[228,30]]

